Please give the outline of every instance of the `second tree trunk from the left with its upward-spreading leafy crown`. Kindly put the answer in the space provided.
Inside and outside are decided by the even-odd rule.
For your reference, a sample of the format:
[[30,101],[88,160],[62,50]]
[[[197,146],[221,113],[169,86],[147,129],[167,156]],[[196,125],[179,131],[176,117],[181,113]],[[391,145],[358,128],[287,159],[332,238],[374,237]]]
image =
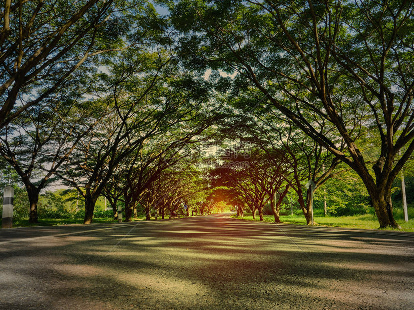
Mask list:
[[[141,59],[142,60],[142,59]],[[151,62],[153,59],[148,58]],[[118,165],[132,152],[139,151],[152,135],[160,134],[169,122],[173,109],[164,105],[155,89],[158,85],[158,69],[155,75],[133,78],[136,85],[131,87],[129,78],[140,70],[149,70],[148,63],[120,79],[109,81],[108,94],[94,101],[86,102],[91,110],[85,118],[91,122],[91,129],[66,160],[58,175],[78,189],[85,199],[85,223],[92,222],[96,200]],[[163,66],[160,60],[154,66]],[[142,72],[140,72],[142,73]],[[105,78],[105,77],[104,77]],[[125,88],[126,87],[126,88]],[[99,120],[99,121],[97,121]]]

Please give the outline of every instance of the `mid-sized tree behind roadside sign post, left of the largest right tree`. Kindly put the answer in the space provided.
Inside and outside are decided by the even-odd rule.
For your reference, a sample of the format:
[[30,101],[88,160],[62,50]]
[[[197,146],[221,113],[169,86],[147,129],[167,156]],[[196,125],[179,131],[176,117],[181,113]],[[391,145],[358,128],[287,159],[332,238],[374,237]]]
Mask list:
[[[282,177],[288,184],[286,189],[289,187],[295,190],[297,201],[309,225],[312,223],[313,205],[310,192],[304,190],[303,184],[312,180],[316,184],[315,191],[317,191],[329,178],[342,172],[343,169],[336,169],[340,162],[335,156],[327,153],[321,145],[298,130],[292,122],[280,118],[275,121],[272,115],[260,117],[260,120],[263,123],[257,123],[258,135],[255,140],[266,153],[278,154],[278,156],[269,156],[269,159],[273,160],[274,165],[281,165],[284,171]],[[337,145],[340,143],[339,140]],[[279,203],[281,202],[279,199]]]

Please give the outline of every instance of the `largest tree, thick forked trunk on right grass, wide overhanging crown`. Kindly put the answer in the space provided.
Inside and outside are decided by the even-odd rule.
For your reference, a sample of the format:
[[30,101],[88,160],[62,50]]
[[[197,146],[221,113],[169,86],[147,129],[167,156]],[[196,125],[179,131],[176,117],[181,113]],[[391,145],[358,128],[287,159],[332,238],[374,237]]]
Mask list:
[[[399,226],[390,191],[414,150],[412,1],[182,0],[170,8],[187,65],[237,72],[361,177],[381,227]],[[312,114],[346,151],[314,128]],[[360,128],[379,145],[373,164]]]

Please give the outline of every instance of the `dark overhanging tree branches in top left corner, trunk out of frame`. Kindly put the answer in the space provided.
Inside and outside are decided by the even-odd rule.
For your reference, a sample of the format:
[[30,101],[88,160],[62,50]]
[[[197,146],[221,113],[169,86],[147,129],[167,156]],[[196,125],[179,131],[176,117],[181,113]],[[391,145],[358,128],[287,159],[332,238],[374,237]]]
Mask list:
[[116,2],[5,1],[0,14],[0,128],[57,91],[91,56],[123,47],[117,39],[121,33],[112,29],[122,15],[114,13],[123,5]]

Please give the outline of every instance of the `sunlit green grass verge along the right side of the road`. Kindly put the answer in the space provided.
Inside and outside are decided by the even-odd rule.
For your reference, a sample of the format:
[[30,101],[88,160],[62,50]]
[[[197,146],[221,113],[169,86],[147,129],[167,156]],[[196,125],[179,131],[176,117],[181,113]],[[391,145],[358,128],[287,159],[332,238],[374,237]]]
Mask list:
[[[244,219],[244,220],[254,220],[253,216],[244,216],[237,217],[233,215],[234,218]],[[256,216],[256,221],[259,221],[259,216]],[[280,220],[282,223],[287,224],[297,224],[297,225],[306,225],[306,220],[303,215],[281,215]],[[264,221],[274,222],[273,215],[264,215]],[[319,226],[327,227],[343,227],[343,228],[359,228],[359,229],[377,229],[379,227],[378,220],[372,214],[365,215],[354,215],[354,216],[315,216],[314,221]],[[397,221],[398,224],[402,227],[398,231],[414,231],[414,219],[405,221]],[[392,228],[389,228],[392,230]]]

